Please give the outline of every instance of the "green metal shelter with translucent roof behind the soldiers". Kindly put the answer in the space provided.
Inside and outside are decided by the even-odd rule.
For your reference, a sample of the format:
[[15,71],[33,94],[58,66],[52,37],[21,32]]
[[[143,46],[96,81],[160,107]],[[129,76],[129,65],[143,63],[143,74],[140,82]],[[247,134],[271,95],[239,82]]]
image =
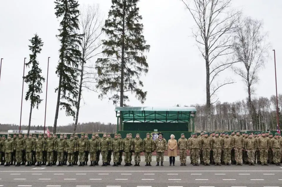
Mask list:
[[[147,132],[174,134],[194,132],[195,107],[116,107],[117,132],[123,137],[129,133]],[[121,120],[120,120],[121,119]],[[121,121],[121,124],[120,124]],[[119,131],[119,126],[122,130]]]

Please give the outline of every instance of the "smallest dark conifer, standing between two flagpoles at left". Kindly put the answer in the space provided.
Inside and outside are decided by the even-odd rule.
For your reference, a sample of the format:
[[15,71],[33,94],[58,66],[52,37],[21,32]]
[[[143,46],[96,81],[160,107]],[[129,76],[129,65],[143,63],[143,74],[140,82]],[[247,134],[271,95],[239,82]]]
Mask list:
[[30,113],[29,113],[29,122],[28,122],[28,134],[30,130],[31,124],[31,113],[32,109],[36,106],[38,109],[38,105],[41,103],[43,99],[40,99],[40,93],[42,93],[42,81],[45,79],[41,76],[41,69],[38,67],[39,63],[37,61],[37,55],[41,52],[41,47],[43,46],[43,42],[41,38],[38,37],[37,34],[34,35],[31,40],[31,45],[28,45],[29,50],[31,50],[31,54],[29,55],[29,62],[26,63],[27,67],[31,67],[31,70],[28,72],[27,76],[24,77],[24,81],[28,84],[28,91],[26,92],[26,101],[30,100]]

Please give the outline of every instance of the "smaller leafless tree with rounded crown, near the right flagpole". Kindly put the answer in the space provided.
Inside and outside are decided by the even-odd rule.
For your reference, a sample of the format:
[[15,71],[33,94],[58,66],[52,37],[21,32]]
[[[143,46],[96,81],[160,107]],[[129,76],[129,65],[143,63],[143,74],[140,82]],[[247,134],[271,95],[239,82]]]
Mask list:
[[247,17],[238,26],[233,37],[234,60],[241,62],[232,69],[245,83],[248,92],[249,124],[251,128],[253,118],[253,105],[251,95],[254,93],[254,85],[259,82],[258,72],[264,67],[268,59],[270,44],[266,42],[267,34],[262,33],[263,22]]

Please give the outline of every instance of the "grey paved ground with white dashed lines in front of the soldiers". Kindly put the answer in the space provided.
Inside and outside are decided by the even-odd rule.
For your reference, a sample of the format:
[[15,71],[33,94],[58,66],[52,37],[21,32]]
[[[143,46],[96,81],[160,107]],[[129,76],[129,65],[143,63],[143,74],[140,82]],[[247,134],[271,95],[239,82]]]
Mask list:
[[[187,162],[188,162],[187,157]],[[166,158],[165,158],[166,159]],[[282,187],[282,167],[255,166],[0,166],[0,186],[33,187]]]

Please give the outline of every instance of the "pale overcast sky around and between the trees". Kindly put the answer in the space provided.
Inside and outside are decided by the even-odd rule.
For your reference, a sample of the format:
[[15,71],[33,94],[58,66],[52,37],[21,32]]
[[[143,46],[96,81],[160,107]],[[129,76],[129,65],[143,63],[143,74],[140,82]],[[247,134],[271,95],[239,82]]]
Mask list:
[[[104,18],[108,16],[111,0],[80,0],[79,4],[100,4]],[[148,91],[144,106],[174,106],[205,103],[205,63],[191,36],[195,25],[190,14],[179,0],[141,0],[138,4],[144,24],[144,36],[151,45],[147,54],[149,72],[142,78],[144,90]],[[264,21],[264,30],[268,31],[270,57],[265,69],[259,73],[260,83],[256,87],[256,97],[270,97],[275,94],[275,74],[273,51],[276,50],[276,68],[278,93],[282,92],[282,38],[281,38],[281,0],[234,0],[233,6],[243,9],[245,16]],[[51,0],[9,0],[0,3],[0,58],[2,63],[0,80],[0,123],[20,123],[21,90],[24,57],[29,60],[29,39],[37,33],[44,46],[38,56],[43,76],[47,76],[47,59],[50,59],[46,125],[54,124],[58,77],[55,69],[58,63],[60,43],[56,38],[59,22],[55,16],[54,3]],[[95,59],[92,60],[95,63]],[[26,69],[25,74],[27,74]],[[244,99],[247,93],[240,77],[227,71],[236,84],[222,88],[217,94],[221,102],[234,102]],[[24,85],[24,96],[27,91]],[[46,83],[43,83],[44,99],[39,109],[33,110],[32,125],[44,124]],[[101,101],[98,94],[84,91],[85,105],[80,109],[79,122],[100,121],[116,123],[115,106],[107,99]],[[128,103],[140,106],[134,96]],[[23,101],[22,124],[28,124],[30,101]],[[58,125],[72,123],[72,117],[66,117],[65,111],[59,112]]]

